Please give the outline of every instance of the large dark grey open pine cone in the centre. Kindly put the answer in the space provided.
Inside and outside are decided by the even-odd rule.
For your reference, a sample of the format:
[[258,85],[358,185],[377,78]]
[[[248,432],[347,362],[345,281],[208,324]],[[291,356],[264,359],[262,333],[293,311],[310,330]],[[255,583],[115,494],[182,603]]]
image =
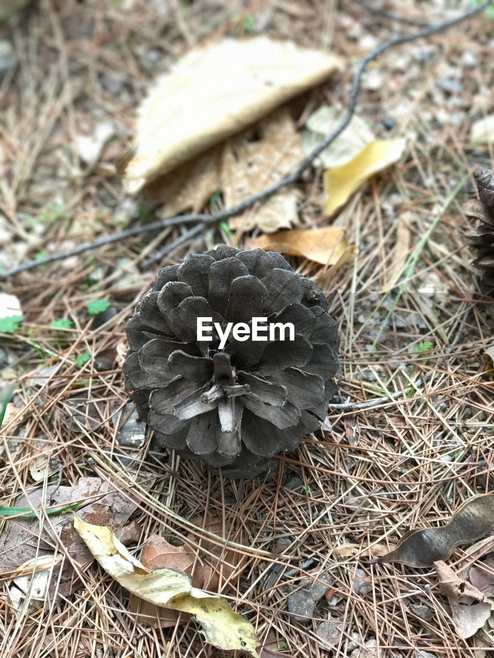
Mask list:
[[[227,322],[252,328],[253,317],[267,317],[269,326],[291,322],[295,336],[230,333],[219,349],[214,329],[212,342],[198,341],[198,317],[221,333]],[[126,390],[157,442],[230,477],[252,477],[294,449],[337,392],[340,337],[327,301],[277,252],[223,245],[163,268],[126,331]]]

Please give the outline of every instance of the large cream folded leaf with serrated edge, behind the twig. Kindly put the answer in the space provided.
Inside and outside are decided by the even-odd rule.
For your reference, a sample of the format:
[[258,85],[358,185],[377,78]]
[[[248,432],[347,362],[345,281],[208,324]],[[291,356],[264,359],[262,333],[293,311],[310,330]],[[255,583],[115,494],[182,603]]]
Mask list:
[[339,68],[340,61],[323,51],[265,36],[226,38],[191,51],[140,107],[124,186],[140,190]]

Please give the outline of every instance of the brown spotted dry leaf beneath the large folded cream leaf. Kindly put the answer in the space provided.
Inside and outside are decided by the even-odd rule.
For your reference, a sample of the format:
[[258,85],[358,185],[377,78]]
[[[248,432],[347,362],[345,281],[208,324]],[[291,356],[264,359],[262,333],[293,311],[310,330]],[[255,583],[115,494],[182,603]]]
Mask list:
[[[200,211],[216,191],[227,207],[277,182],[302,160],[302,145],[287,109],[279,109],[252,127],[159,176],[144,190],[150,206],[163,204],[162,216]],[[254,226],[266,233],[298,222],[298,191],[279,190],[243,215],[229,220],[243,231]]]

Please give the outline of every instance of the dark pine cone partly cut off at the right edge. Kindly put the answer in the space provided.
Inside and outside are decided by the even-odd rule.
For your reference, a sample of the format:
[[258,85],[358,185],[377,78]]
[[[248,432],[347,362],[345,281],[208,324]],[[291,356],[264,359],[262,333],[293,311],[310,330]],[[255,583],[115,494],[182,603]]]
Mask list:
[[478,169],[474,178],[480,201],[469,201],[464,211],[470,219],[480,220],[480,224],[467,235],[467,241],[478,253],[474,265],[483,271],[483,284],[490,290],[494,288],[494,170]]

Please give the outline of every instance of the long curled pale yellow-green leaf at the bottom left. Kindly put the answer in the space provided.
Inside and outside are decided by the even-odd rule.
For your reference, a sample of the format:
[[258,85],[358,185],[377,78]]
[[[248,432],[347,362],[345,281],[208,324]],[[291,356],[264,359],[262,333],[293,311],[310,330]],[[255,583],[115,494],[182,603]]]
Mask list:
[[117,540],[109,526],[84,523],[74,515],[74,528],[99,565],[126,590],[153,605],[194,615],[209,644],[221,649],[242,649],[259,658],[256,647],[260,642],[254,628],[220,596],[194,588],[190,576],[182,571],[146,569]]

